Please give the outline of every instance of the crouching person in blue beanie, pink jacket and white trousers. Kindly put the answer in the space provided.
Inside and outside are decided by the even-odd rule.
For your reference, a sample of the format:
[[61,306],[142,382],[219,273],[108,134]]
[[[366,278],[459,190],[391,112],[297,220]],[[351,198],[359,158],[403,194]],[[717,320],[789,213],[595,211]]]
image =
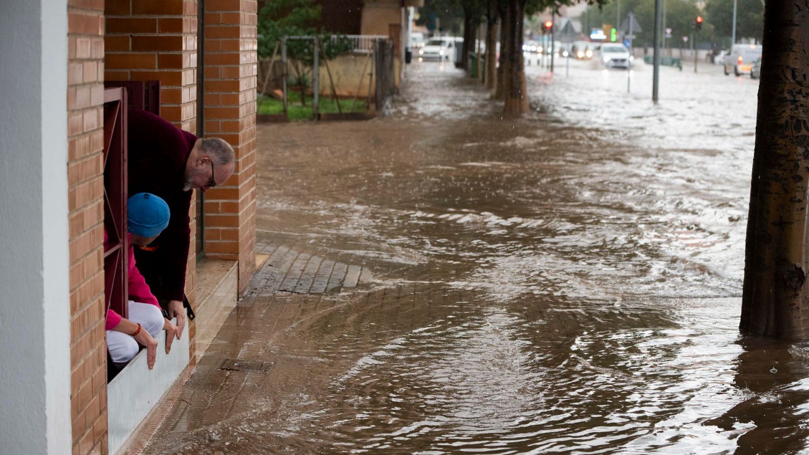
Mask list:
[[[172,341],[179,335],[176,325],[163,317],[149,285],[135,266],[133,245],[149,245],[168,225],[170,213],[162,198],[151,193],[138,193],[127,201],[127,222],[129,230],[129,317],[107,311],[107,349],[112,363],[117,367],[129,363],[138,355],[140,347],[146,347],[146,363],[149,369],[155,366],[157,338],[163,330],[167,332],[166,354],[172,348]],[[106,241],[106,232],[104,237]]]

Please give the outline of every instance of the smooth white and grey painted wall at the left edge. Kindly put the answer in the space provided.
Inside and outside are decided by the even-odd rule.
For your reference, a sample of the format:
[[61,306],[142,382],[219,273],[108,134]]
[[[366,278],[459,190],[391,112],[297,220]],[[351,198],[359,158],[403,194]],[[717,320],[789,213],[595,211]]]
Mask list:
[[70,453],[67,0],[0,1],[0,441]]

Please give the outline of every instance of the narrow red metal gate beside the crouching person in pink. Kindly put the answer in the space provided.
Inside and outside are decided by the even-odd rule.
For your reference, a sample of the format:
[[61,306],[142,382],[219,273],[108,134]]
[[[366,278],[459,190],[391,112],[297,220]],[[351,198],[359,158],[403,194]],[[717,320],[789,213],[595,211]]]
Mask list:
[[126,232],[126,112],[124,88],[104,89],[104,298],[128,317]]

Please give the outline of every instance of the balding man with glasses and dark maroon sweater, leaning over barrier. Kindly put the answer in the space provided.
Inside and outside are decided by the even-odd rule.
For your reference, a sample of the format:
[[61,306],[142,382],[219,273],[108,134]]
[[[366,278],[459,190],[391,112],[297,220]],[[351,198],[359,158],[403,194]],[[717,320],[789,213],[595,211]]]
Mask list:
[[166,304],[169,319],[177,317],[180,338],[191,189],[205,192],[222,185],[233,173],[235,154],[222,139],[197,138],[153,113],[130,108],[128,116],[129,194],[157,194],[172,212],[157,240],[148,249],[135,249],[135,259],[146,283]]

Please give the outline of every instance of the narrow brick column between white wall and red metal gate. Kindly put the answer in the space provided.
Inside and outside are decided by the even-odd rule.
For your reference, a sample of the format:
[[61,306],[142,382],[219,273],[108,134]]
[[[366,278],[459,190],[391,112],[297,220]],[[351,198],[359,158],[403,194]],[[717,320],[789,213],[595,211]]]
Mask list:
[[68,2],[70,407],[73,453],[107,447],[104,319],[104,0]]

